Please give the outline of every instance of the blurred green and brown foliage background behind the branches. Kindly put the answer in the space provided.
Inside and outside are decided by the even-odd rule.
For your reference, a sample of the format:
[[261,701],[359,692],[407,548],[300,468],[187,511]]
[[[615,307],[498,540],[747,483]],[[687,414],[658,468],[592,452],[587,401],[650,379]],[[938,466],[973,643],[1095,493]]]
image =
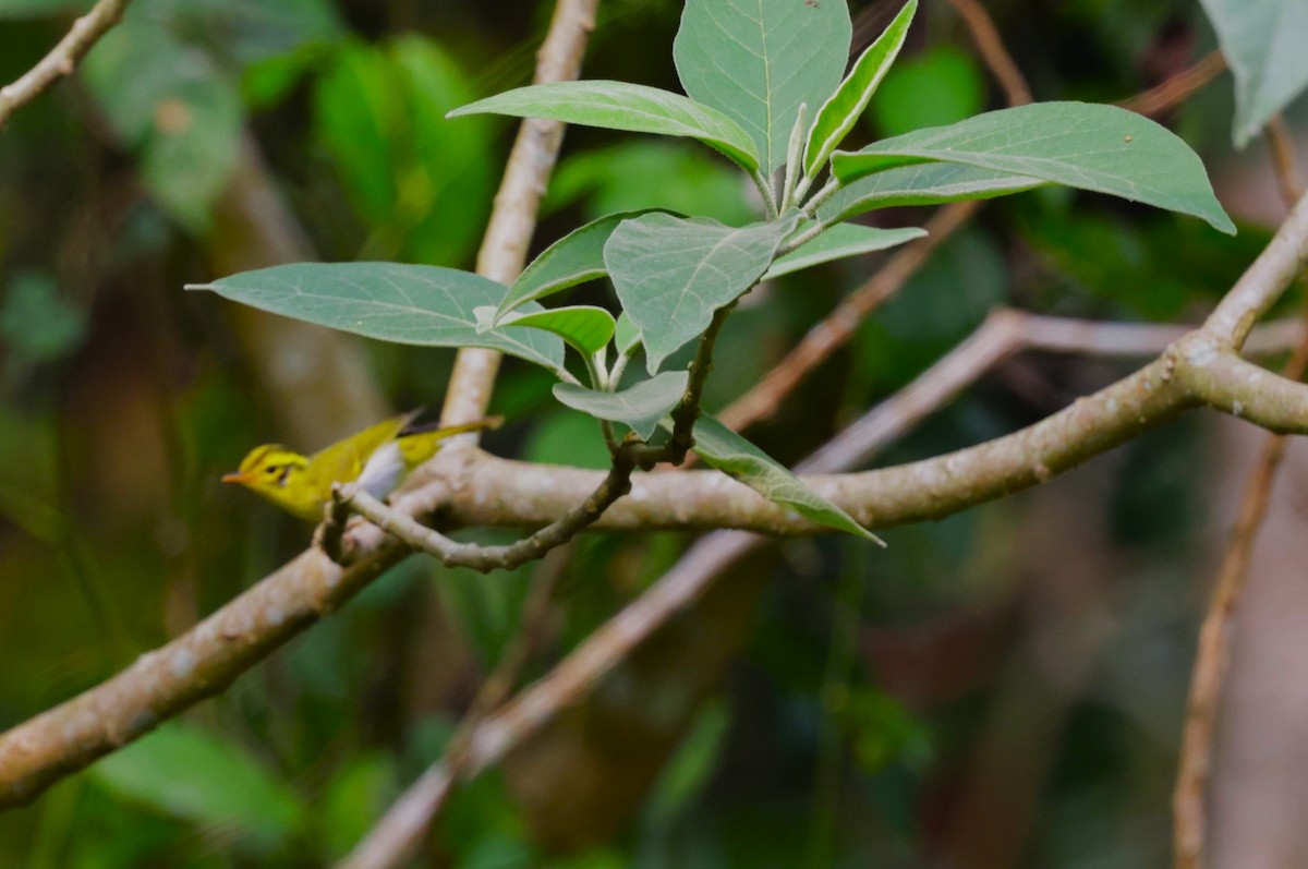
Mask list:
[[[0,728],[106,678],[306,544],[309,529],[218,483],[250,446],[309,450],[439,406],[451,352],[182,287],[305,259],[471,267],[514,130],[443,114],[530,79],[551,5],[136,0],[77,76],[0,131]],[[1041,99],[1118,101],[1215,44],[1194,0],[986,5]],[[852,3],[855,50],[897,7]],[[0,0],[0,80],[80,8]],[[679,14],[675,0],[604,0],[585,76],[676,89]],[[1162,120],[1203,156],[1237,237],[1067,190],[990,204],[751,436],[802,458],[995,305],[1197,319],[1283,216],[1262,143],[1231,151],[1231,92],[1223,76]],[[853,135],[1002,105],[963,22],[927,1]],[[1288,118],[1300,140],[1305,120]],[[693,144],[569,130],[534,246],[615,209],[740,222],[749,196]],[[757,382],[876,263],[752,293],[709,406]],[[599,304],[606,292],[583,291]],[[1006,433],[1126,370],[1022,356],[880,462]],[[548,386],[506,363],[492,410],[510,424],[489,448],[604,466],[593,421]],[[886,551],[772,547],[460,790],[433,865],[1164,865],[1197,622],[1223,505],[1257,442],[1239,428],[1186,416],[1037,491],[888,530]],[[220,698],[0,815],[0,865],[340,857],[439,755],[542,572],[561,592],[528,675],[689,542],[590,534],[488,577],[412,559]],[[1278,612],[1295,618],[1264,618]]]

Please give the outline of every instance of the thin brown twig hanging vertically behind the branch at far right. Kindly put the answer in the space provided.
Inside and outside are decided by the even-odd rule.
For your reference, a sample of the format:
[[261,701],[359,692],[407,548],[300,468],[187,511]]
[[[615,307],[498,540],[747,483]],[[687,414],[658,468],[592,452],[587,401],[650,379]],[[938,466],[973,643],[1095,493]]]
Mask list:
[[[1267,145],[1282,198],[1292,207],[1303,192],[1294,158],[1294,141],[1279,116],[1267,124]],[[1304,306],[1303,322],[1308,325],[1308,305]],[[1305,372],[1308,372],[1308,338],[1295,348],[1282,374],[1299,381]],[[1218,568],[1213,599],[1199,628],[1199,645],[1190,675],[1190,695],[1181,737],[1180,770],[1172,797],[1176,869],[1201,869],[1205,864],[1213,743],[1223,684],[1231,664],[1236,611],[1249,575],[1249,559],[1258,539],[1258,530],[1267,516],[1271,487],[1284,453],[1284,434],[1271,434],[1264,441],[1258,462],[1245,483],[1227,550]]]

